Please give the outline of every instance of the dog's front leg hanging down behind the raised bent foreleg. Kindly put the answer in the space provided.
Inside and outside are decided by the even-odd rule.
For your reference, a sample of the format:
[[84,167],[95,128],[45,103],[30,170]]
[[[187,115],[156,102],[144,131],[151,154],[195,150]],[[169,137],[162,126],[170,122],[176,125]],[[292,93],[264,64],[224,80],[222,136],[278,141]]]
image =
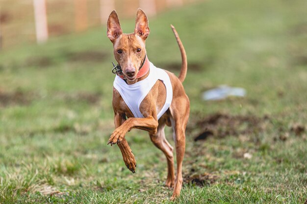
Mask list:
[[[126,115],[115,113],[114,115],[115,128],[120,127],[125,121],[126,121]],[[132,173],[135,173],[136,160],[125,137],[123,138],[122,142],[118,143],[117,145],[122,152],[125,165],[130,171],[132,171]]]

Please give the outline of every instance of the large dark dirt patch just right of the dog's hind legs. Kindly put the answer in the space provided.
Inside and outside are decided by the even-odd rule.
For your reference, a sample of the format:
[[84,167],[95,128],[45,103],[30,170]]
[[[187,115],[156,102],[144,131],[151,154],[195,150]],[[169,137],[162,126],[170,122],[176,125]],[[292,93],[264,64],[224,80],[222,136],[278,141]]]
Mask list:
[[230,135],[254,134],[263,131],[267,119],[267,116],[259,118],[253,115],[215,113],[198,121],[190,122],[187,131],[192,132],[195,128],[201,130],[201,133],[194,138],[195,141],[206,139],[209,136],[222,138]]

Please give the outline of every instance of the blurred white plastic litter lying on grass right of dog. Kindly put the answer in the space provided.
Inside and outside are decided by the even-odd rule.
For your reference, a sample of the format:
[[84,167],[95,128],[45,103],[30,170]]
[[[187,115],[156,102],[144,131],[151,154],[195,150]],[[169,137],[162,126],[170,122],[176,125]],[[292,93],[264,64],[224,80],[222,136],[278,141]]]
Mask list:
[[221,100],[228,96],[244,97],[246,94],[245,89],[239,87],[229,87],[221,85],[218,88],[205,91],[203,93],[204,100]]

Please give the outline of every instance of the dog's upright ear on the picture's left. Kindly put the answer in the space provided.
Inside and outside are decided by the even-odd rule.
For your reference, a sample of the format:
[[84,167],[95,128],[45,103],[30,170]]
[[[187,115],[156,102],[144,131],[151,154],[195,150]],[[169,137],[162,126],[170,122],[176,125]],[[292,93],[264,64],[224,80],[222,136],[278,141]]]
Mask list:
[[119,23],[119,19],[115,10],[111,12],[106,25],[107,25],[106,35],[113,43],[115,39],[118,38],[118,36],[123,33],[121,24]]

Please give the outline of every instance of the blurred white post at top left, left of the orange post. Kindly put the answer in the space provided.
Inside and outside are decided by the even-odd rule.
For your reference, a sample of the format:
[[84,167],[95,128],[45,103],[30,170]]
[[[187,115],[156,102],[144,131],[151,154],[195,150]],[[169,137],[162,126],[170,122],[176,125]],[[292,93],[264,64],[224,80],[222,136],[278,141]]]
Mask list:
[[37,43],[48,40],[46,0],[33,0]]

